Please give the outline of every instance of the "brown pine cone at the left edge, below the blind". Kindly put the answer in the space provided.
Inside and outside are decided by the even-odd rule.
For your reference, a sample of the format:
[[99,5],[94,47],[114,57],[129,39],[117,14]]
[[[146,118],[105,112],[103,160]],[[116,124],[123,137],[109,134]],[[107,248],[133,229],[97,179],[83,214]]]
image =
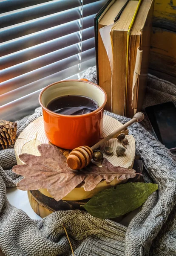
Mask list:
[[17,123],[0,120],[0,145],[3,149],[14,144],[16,134]]

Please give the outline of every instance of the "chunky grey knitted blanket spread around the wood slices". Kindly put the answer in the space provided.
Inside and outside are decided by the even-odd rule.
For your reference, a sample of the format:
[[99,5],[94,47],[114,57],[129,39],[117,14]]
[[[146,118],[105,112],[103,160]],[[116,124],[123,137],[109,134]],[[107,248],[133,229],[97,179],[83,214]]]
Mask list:
[[[88,79],[91,80],[90,74]],[[105,114],[122,123],[128,121],[107,111]],[[33,115],[18,121],[17,134],[41,115],[41,108],[37,108]],[[22,177],[11,172],[16,164],[14,149],[1,150],[0,249],[3,253],[6,256],[71,256],[64,224],[75,256],[176,256],[176,162],[173,154],[141,124],[131,125],[129,132],[136,140],[146,169],[145,182],[157,183],[159,190],[149,196],[128,228],[80,210],[57,211],[40,221],[30,219],[6,198],[6,187],[16,186]]]

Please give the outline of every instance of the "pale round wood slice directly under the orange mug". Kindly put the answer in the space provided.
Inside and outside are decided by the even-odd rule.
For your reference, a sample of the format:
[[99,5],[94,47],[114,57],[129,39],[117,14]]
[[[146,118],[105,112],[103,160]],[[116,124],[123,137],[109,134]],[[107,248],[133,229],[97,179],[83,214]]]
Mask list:
[[[112,133],[115,131],[117,128],[122,126],[122,124],[110,117],[110,116],[104,116],[104,124],[103,124],[103,132],[102,132],[102,137],[106,137],[108,134]],[[109,160],[110,163],[112,163],[114,166],[122,166],[125,168],[132,168],[133,166],[133,160],[135,157],[135,140],[132,135],[128,135],[128,130],[125,130],[124,133],[127,135],[126,137],[128,138],[129,144],[127,145],[127,149],[125,152],[124,156],[121,157],[116,157],[114,154],[113,155],[107,155],[104,152],[104,149],[102,148],[102,151],[104,152],[104,157]],[[42,144],[42,143],[49,143],[47,137],[45,136],[44,132],[44,125],[43,125],[43,116],[39,117],[36,119],[34,122],[31,122],[24,131],[20,134],[20,136],[17,138],[17,141],[15,143],[14,149],[15,149],[15,154],[17,158],[17,164],[24,164],[20,159],[19,155],[22,153],[28,153],[28,154],[33,154],[33,155],[40,155],[39,151],[37,150],[37,146]],[[117,145],[120,145],[120,143],[116,139],[111,139],[108,143],[108,146],[112,147],[114,152],[115,148]],[[68,150],[59,148],[60,151],[62,151],[62,154],[67,157],[69,154]],[[100,166],[100,163],[97,163],[98,166]],[[123,180],[123,182],[126,182],[127,180]],[[108,189],[111,186],[115,186],[116,184],[119,184],[121,182],[117,181],[114,179],[110,184],[107,184],[105,181],[100,182],[95,189],[92,191],[86,192],[84,188],[82,187],[82,184],[79,184],[75,189],[73,189],[65,198],[62,199],[62,201],[80,201],[80,200],[85,200],[87,198],[91,198],[94,196],[97,192],[103,190],[103,189]],[[39,192],[43,194],[43,196],[52,198],[52,196],[48,193],[47,189],[39,189]],[[40,199],[41,197],[35,198],[38,196],[37,191],[33,192],[28,192],[28,198],[30,201],[30,204],[34,211],[37,213],[36,204],[40,204]],[[45,198],[46,199],[46,198]],[[55,200],[54,200],[55,201]],[[57,201],[55,201],[57,202]],[[59,203],[59,202],[57,202]],[[63,205],[59,203],[60,205]],[[77,205],[77,203],[75,202]],[[65,205],[65,204],[64,204]],[[47,206],[47,203],[45,204]],[[41,203],[41,207],[45,206],[43,203]],[[47,207],[47,211],[51,213],[55,209],[52,209],[52,207]],[[62,207],[61,207],[62,208]],[[43,208],[42,208],[43,209]],[[77,209],[77,208],[76,208]],[[40,209],[41,212],[41,209]],[[37,213],[38,214],[38,213]],[[48,215],[47,213],[45,213]],[[44,214],[44,215],[45,215]],[[39,214],[44,216],[43,213]]]

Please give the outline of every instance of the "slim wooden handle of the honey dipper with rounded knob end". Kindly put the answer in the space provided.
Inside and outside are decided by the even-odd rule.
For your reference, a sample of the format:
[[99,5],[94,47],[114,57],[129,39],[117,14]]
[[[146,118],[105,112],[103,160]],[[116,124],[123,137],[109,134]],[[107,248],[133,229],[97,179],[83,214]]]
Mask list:
[[134,122],[141,122],[144,119],[144,114],[141,112],[136,113],[133,118],[125,123],[125,125],[122,125],[120,128],[118,128],[116,131],[109,134],[104,139],[100,140],[98,143],[96,143],[94,146],[91,147],[91,149],[94,151],[95,149],[101,147],[104,145],[108,140],[112,139],[115,135],[117,136],[119,133],[121,133],[125,128],[132,125]]

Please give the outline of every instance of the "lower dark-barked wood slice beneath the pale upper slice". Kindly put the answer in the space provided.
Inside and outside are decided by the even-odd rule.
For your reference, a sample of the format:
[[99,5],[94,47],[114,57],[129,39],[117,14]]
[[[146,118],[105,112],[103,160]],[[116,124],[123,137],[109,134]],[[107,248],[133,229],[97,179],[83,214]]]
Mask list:
[[[136,155],[136,158],[139,158],[139,155]],[[142,174],[143,165],[142,160],[134,160],[133,169],[136,172]],[[136,176],[133,179],[129,179],[129,182],[143,182],[141,176]],[[58,210],[75,210],[83,209],[81,205],[84,205],[88,202],[89,199],[80,200],[80,201],[65,201],[60,200],[56,201],[54,198],[43,195],[39,190],[28,191],[29,203],[34,210],[34,212],[39,215],[41,218],[45,218],[49,214]],[[122,216],[121,216],[122,217]]]

